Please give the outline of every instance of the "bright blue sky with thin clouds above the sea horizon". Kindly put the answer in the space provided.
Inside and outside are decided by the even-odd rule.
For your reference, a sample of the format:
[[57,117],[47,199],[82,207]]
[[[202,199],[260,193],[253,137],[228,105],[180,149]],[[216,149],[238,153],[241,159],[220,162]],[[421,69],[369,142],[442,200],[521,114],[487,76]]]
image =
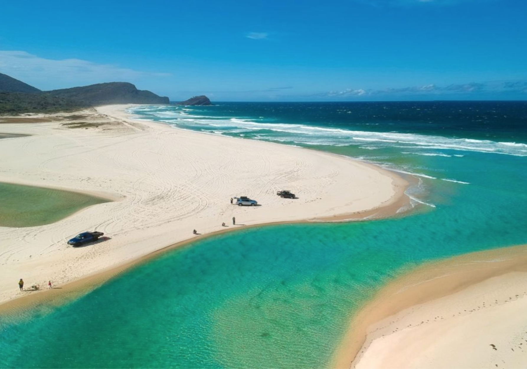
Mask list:
[[[5,2],[0,72],[178,101],[527,100],[527,0]],[[11,14],[11,16],[6,16]]]

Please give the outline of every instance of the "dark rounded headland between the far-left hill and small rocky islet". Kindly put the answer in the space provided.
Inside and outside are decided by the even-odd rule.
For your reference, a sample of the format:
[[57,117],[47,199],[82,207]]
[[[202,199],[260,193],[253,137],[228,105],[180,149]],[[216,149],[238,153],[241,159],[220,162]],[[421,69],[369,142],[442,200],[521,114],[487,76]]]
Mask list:
[[167,97],[158,96],[146,90],[138,90],[128,82],[98,83],[71,89],[45,91],[43,94],[89,105],[169,103]]

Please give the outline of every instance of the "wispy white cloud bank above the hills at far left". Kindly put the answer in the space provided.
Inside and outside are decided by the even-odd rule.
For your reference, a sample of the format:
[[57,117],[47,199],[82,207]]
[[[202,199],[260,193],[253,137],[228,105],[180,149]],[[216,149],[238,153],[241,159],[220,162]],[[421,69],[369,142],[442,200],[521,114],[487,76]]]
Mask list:
[[0,50],[0,73],[34,85],[41,90],[70,88],[102,82],[132,82],[167,77],[169,73],[149,73],[111,64],[80,59],[45,59],[25,51]]

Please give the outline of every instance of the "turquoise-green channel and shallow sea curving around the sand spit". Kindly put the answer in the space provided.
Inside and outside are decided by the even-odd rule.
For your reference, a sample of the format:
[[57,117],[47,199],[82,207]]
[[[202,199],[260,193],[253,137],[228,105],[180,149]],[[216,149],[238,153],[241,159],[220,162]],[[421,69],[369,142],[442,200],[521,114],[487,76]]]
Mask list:
[[[174,114],[183,128],[202,130],[210,109],[217,116],[231,111],[214,122],[227,126],[239,119],[232,118],[235,108],[142,109]],[[252,119],[241,110],[240,119],[251,124],[266,119],[256,119],[261,111]],[[285,123],[276,114],[275,123],[264,124],[281,124],[280,131],[267,138],[254,137],[258,127],[214,133],[287,137],[418,174],[419,186],[409,190],[416,211],[369,222],[260,227],[194,242],[64,306],[1,317],[0,366],[324,367],[350,317],[386,281],[427,260],[527,243],[525,121],[510,124],[512,141],[499,125],[490,140],[468,123],[444,136],[426,134],[426,122],[415,134],[394,132],[393,125],[389,132],[355,127],[349,133],[305,118]],[[287,124],[344,132],[309,135],[309,128]],[[408,136],[394,139],[403,133]]]

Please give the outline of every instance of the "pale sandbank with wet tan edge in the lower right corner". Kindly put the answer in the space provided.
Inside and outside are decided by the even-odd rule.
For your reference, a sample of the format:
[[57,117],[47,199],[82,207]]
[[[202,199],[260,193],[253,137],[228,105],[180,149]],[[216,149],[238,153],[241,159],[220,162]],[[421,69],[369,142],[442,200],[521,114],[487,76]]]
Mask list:
[[[401,276],[382,287],[354,314],[335,351],[331,367],[494,366],[496,354],[486,349],[492,348],[490,344],[498,343],[503,347],[503,342],[510,338],[509,333],[500,336],[501,332],[490,332],[489,329],[483,332],[469,329],[457,332],[465,337],[456,342],[457,336],[452,332],[469,323],[475,327],[488,327],[491,322],[496,326],[504,324],[509,313],[503,307],[509,306],[506,303],[513,299],[520,301],[519,296],[527,295],[525,281],[527,245],[475,251],[429,261],[407,271],[403,269]],[[487,301],[486,305],[482,300]],[[527,298],[522,300],[522,304],[525,303]],[[489,318],[491,314],[499,316],[499,320]],[[466,350],[473,347],[464,347],[464,356],[452,353],[476,338],[489,341],[478,348],[481,353],[477,351],[474,357],[466,355]],[[444,355],[445,351],[451,355]],[[423,355],[417,355],[418,352]],[[483,353],[494,355],[494,361]],[[514,349],[506,354],[503,351],[503,355],[508,354],[514,354]],[[475,364],[483,358],[488,359],[487,362]],[[505,363],[510,357],[502,359]]]

